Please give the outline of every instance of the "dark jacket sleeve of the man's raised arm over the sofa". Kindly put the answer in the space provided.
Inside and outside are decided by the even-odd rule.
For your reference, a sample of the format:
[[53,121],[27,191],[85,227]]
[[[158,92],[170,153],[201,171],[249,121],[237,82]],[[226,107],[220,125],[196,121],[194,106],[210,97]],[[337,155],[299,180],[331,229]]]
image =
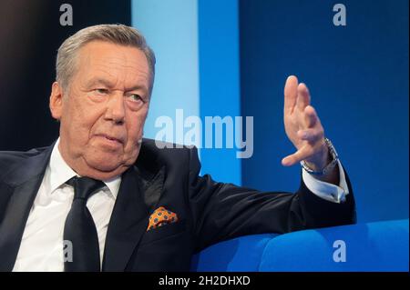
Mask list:
[[355,223],[354,195],[345,171],[349,195],[342,204],[314,195],[303,181],[294,194],[260,192],[218,183],[210,175],[199,173],[200,161],[193,148],[190,150],[189,202],[196,251],[240,235],[283,234]]

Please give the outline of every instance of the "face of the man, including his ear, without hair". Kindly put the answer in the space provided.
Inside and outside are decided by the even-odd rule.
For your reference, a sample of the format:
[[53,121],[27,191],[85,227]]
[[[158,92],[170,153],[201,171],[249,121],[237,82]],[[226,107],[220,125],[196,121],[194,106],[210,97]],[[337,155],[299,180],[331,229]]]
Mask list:
[[[64,95],[67,94],[67,95]],[[133,165],[149,109],[149,64],[138,48],[83,46],[67,92],[53,84],[61,155],[79,175],[108,179]]]

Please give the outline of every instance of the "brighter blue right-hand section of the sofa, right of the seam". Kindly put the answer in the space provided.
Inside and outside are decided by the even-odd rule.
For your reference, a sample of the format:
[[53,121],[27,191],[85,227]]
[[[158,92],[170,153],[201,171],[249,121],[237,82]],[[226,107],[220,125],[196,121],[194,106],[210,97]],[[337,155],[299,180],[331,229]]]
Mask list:
[[[260,271],[408,271],[408,235],[408,219],[281,235],[265,246]],[[345,262],[333,260],[335,241]]]

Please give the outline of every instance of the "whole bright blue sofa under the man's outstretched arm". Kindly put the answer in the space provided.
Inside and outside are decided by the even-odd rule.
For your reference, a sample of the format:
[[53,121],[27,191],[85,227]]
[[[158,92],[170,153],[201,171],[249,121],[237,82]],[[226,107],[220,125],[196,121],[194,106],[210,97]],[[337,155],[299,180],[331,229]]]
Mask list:
[[408,271],[408,224],[405,219],[241,236],[195,255],[191,270]]

